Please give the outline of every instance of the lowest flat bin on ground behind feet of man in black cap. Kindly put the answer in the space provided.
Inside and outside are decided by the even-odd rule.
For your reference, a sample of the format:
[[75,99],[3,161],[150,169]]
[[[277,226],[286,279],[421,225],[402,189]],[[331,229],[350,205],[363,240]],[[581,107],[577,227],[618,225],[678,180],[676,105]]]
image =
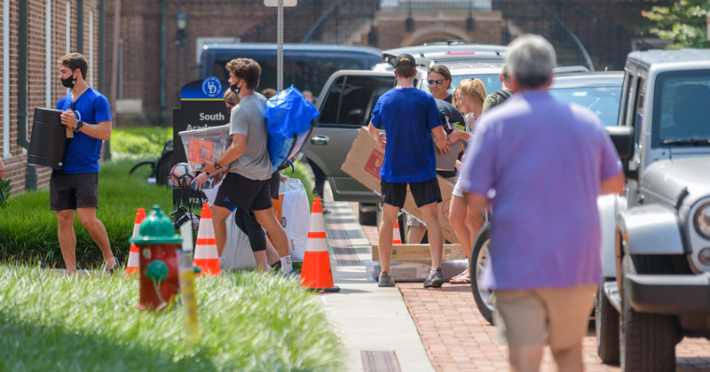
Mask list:
[[[380,262],[366,260],[364,263],[367,282],[377,282],[382,271]],[[469,268],[468,260],[446,260],[441,263],[441,274],[444,275],[444,280],[448,281],[467,268]],[[430,269],[430,262],[390,261],[392,279],[399,283],[422,283],[429,277]]]

